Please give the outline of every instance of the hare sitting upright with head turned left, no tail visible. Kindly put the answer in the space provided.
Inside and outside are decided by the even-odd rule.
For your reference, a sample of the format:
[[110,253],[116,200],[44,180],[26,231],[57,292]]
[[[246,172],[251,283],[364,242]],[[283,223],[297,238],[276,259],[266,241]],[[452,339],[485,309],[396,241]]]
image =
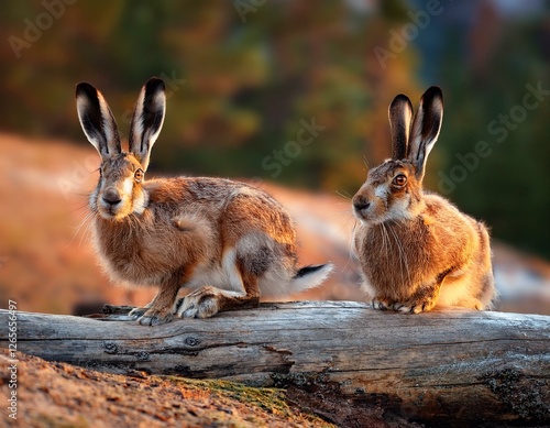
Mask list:
[[352,199],[353,244],[375,309],[418,314],[438,306],[490,309],[495,296],[487,229],[422,189],[443,117],[429,88],[415,117],[402,95],[389,106],[393,156],[369,172]]

